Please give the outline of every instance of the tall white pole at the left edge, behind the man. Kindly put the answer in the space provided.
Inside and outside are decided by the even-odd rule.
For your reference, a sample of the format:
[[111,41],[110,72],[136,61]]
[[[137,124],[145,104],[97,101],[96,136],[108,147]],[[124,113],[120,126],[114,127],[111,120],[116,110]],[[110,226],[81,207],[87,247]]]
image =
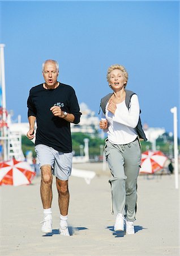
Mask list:
[[[0,44],[0,64],[1,64],[1,86],[2,86],[2,119],[6,122],[6,90],[5,90],[5,55],[4,55],[5,44]],[[3,127],[3,136],[7,136],[7,127]],[[7,160],[7,140],[3,142],[3,160]]]

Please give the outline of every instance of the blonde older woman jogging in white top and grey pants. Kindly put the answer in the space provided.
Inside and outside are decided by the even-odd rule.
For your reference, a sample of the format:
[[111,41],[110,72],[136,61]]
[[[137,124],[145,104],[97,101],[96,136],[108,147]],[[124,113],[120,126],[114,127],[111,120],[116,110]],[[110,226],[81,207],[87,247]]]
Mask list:
[[145,138],[140,121],[138,96],[126,90],[128,73],[122,65],[109,67],[107,81],[113,93],[101,99],[102,119],[100,128],[104,129],[105,155],[112,178],[112,213],[117,214],[114,231],[124,230],[134,234],[136,213],[136,186],[139,175],[141,150],[139,138]]

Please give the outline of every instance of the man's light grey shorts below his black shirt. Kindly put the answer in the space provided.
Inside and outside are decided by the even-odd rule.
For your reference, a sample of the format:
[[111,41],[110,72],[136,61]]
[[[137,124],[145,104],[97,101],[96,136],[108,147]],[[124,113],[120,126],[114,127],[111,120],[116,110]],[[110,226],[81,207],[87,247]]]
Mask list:
[[45,164],[52,166],[52,173],[59,180],[68,180],[72,169],[72,152],[63,153],[44,144],[35,146],[40,167]]

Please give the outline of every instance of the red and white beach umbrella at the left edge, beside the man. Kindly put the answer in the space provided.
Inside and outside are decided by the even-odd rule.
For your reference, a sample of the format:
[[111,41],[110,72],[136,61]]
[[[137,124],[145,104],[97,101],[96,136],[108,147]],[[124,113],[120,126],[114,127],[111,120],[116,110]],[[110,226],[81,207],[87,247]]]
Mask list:
[[0,163],[0,185],[30,184],[35,175],[27,162],[12,159]]

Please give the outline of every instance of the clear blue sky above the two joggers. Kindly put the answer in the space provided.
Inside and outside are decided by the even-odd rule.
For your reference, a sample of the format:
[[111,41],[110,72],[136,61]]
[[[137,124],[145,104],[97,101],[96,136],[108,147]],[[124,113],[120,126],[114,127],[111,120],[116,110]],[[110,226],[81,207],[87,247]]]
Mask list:
[[59,81],[98,115],[110,92],[106,71],[125,65],[142,122],[173,131],[179,105],[178,1],[1,1],[6,105],[27,122],[27,97],[41,64],[59,62]]

